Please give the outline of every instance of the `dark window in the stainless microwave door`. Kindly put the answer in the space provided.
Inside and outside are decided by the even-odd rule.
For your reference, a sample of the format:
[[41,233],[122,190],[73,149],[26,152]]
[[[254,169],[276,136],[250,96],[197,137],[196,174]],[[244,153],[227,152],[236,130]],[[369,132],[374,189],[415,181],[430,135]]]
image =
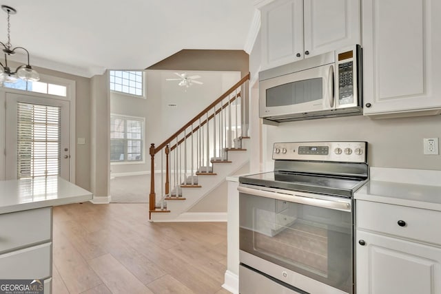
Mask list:
[[266,92],[267,107],[295,105],[323,98],[322,78],[310,78],[271,87]]

